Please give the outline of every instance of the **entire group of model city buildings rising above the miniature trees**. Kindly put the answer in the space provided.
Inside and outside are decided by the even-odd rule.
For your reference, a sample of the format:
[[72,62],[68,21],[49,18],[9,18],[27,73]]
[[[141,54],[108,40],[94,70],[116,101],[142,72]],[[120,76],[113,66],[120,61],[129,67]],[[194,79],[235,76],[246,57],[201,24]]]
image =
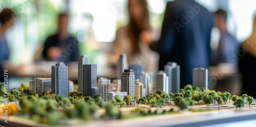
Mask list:
[[[129,69],[130,68],[130,69]],[[137,68],[134,72],[133,68]],[[139,68],[139,69],[138,69]],[[151,88],[150,75],[143,72],[141,66],[128,66],[126,55],[120,55],[118,61],[118,79],[112,82],[107,78],[99,78],[97,81],[97,65],[90,65],[89,58],[82,55],[78,58],[78,92],[83,96],[93,97],[100,93],[104,101],[111,101],[114,96],[120,94],[124,96],[145,96],[157,90],[166,93],[180,92],[180,66],[176,62],[168,62],[164,71],[159,71],[154,75],[154,85]],[[195,68],[193,70],[193,86],[205,88],[208,84],[208,70]],[[63,62],[58,62],[52,66],[52,78],[35,78],[30,81],[29,87],[36,94],[51,91],[55,95],[67,97],[73,91],[73,82],[68,80],[68,67]]]

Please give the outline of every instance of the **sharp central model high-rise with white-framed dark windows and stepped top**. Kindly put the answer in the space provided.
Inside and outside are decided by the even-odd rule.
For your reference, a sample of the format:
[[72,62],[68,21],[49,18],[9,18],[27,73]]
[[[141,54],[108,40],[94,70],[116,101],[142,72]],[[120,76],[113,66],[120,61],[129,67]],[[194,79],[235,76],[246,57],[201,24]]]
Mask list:
[[127,92],[132,99],[135,96],[135,75],[133,70],[124,70],[121,75],[121,92]]

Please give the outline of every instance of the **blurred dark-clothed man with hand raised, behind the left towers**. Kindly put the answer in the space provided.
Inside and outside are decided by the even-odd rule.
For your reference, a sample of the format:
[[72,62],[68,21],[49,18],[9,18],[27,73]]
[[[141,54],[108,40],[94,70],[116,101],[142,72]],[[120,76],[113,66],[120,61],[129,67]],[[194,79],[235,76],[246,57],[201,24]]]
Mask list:
[[58,15],[57,33],[49,36],[44,44],[42,55],[47,61],[70,62],[79,58],[77,40],[68,32],[69,16],[66,13]]

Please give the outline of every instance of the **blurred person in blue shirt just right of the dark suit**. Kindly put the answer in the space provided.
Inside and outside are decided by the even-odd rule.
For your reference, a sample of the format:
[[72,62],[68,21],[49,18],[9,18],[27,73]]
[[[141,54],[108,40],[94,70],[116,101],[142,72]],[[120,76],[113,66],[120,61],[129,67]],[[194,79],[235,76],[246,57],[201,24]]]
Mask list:
[[232,58],[233,54],[238,51],[238,41],[227,31],[227,12],[225,10],[217,10],[214,13],[215,26],[219,29],[221,36],[219,46],[212,57],[212,64],[230,63],[237,65],[237,61]]

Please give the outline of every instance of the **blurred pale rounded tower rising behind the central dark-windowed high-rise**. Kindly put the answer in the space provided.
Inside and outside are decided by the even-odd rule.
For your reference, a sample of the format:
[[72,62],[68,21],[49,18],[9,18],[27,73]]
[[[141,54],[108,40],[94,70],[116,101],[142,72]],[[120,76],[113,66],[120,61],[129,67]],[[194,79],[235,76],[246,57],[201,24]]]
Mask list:
[[127,58],[126,58],[126,54],[122,54],[120,55],[119,57],[119,60],[118,60],[118,79],[121,79],[121,74],[123,72],[123,70],[126,70],[128,69],[128,64],[127,64]]

